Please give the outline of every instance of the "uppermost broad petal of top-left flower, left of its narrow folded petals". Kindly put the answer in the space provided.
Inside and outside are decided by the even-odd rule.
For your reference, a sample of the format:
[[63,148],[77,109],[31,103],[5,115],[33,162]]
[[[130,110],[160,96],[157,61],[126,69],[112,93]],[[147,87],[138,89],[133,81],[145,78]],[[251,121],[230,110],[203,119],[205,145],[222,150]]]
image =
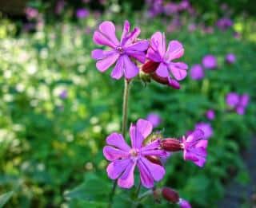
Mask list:
[[119,41],[115,36],[115,27],[113,22],[104,21],[98,26],[98,30],[107,37],[114,45],[119,45]]

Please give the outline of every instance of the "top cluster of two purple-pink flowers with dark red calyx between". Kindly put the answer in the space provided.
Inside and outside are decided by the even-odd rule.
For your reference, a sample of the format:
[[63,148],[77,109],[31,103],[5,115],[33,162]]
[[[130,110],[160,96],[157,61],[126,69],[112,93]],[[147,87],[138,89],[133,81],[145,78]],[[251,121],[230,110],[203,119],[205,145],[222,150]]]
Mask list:
[[114,69],[111,77],[132,79],[139,73],[137,62],[142,63],[141,72],[161,84],[173,88],[180,88],[178,81],[186,77],[188,66],[183,62],[174,62],[183,56],[184,48],[179,41],[170,41],[166,49],[164,33],[156,32],[150,41],[139,40],[140,29],[130,32],[130,23],[125,22],[121,41],[115,35],[115,26],[112,22],[102,22],[94,32],[94,42],[106,45],[110,50],[94,49],[92,57],[97,61],[96,67],[105,72],[111,65]]

